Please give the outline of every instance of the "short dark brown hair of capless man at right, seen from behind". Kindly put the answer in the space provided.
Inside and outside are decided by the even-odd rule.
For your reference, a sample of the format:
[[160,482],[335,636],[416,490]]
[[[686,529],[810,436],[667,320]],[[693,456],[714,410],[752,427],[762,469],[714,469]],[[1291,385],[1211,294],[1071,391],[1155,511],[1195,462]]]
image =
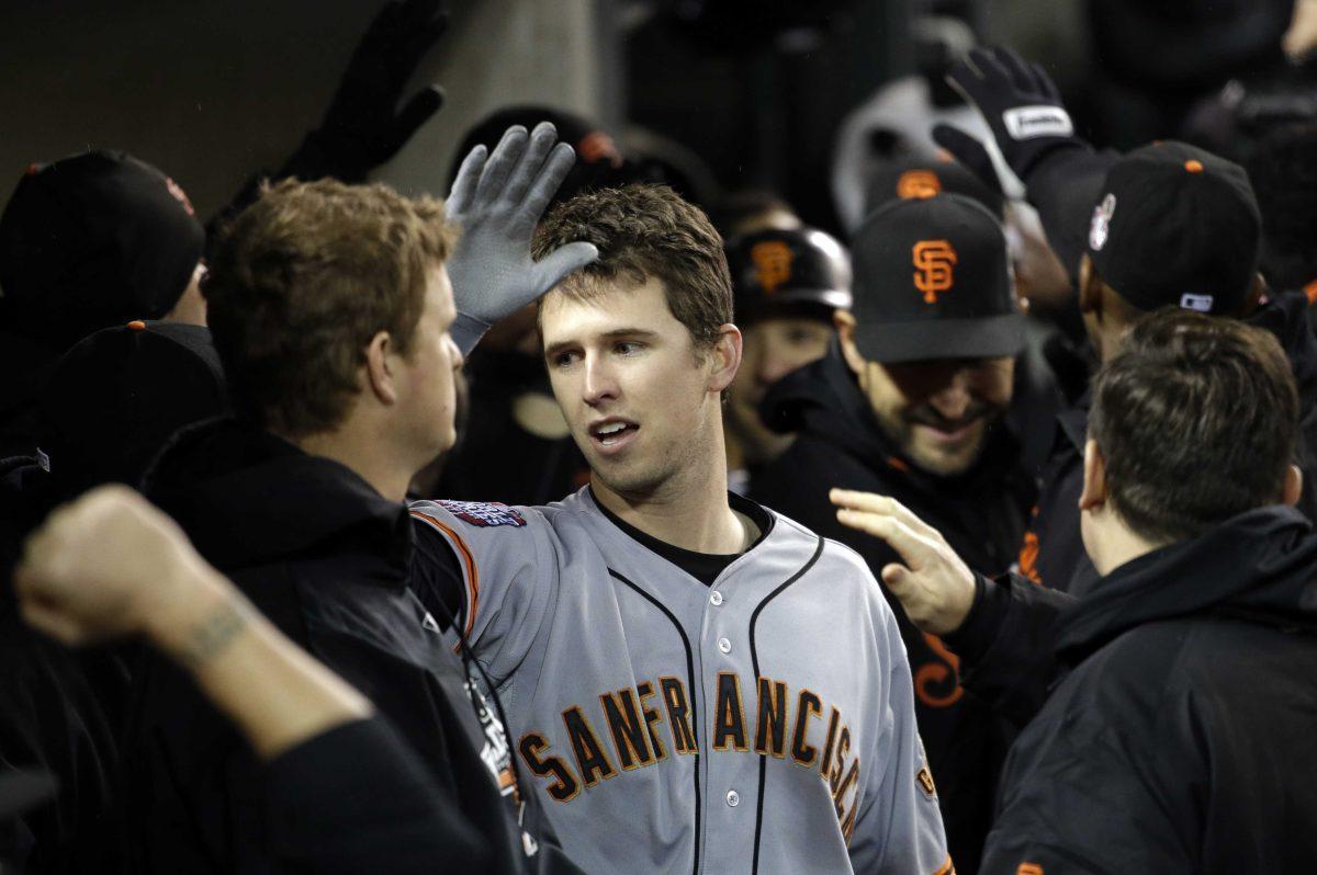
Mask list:
[[1277,503],[1297,433],[1280,343],[1233,318],[1156,311],[1093,380],[1088,434],[1112,505],[1154,541],[1195,538]]

